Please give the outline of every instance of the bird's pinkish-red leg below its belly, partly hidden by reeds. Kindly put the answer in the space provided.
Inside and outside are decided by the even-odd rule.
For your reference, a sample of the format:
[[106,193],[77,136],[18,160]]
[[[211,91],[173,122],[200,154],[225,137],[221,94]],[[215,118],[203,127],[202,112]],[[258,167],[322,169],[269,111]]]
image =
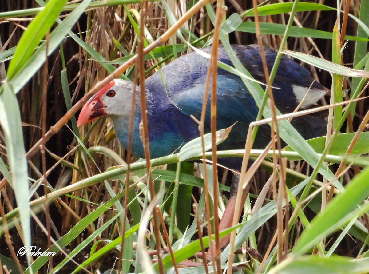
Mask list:
[[[227,203],[227,206],[225,207],[223,217],[219,222],[219,231],[227,229],[232,226],[233,216],[235,214],[234,210],[235,210],[235,205],[236,205],[238,184],[239,184],[239,174],[236,172],[232,172],[231,196]],[[245,204],[247,195],[249,194],[250,185],[251,185],[251,182],[249,182],[249,184],[246,186],[244,190],[244,193],[242,194],[242,199],[241,199],[242,206],[240,207],[240,210],[238,212],[238,219],[241,217],[243,205]],[[224,249],[224,247],[227,246],[227,244],[229,243],[229,240],[230,240],[229,234],[221,238],[219,240],[220,248]],[[211,261],[212,252],[215,252],[215,247],[207,251],[206,257],[207,257],[208,262]]]

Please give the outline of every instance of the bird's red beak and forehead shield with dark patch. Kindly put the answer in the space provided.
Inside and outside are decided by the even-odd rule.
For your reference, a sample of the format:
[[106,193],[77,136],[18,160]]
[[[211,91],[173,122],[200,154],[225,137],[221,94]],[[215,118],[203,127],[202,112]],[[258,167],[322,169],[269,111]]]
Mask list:
[[78,116],[77,126],[83,126],[88,122],[96,120],[99,117],[107,116],[105,106],[101,101],[101,96],[115,85],[114,81],[108,83],[104,88],[99,90],[88,102],[82,107],[81,113]]

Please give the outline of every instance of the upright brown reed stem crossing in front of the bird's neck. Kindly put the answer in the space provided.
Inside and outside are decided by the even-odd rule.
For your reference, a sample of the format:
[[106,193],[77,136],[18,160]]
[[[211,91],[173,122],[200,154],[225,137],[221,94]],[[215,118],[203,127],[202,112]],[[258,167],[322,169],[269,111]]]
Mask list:
[[[145,93],[145,60],[144,60],[144,30],[145,30],[145,18],[147,13],[147,1],[141,1],[140,10],[140,23],[139,23],[139,36],[138,36],[138,46],[137,46],[137,66],[139,71],[139,82],[140,82],[140,99],[141,99],[141,123],[142,128],[140,128],[140,137],[142,144],[144,145],[144,153],[146,160],[146,170],[148,174],[148,185],[151,196],[151,202],[155,198],[154,181],[152,180],[151,164],[150,164],[150,148],[149,148],[149,131],[146,113],[146,93]],[[141,124],[140,124],[141,127]],[[158,208],[155,207],[152,210],[152,219],[154,223],[154,234],[156,240],[156,251],[158,252],[158,264],[159,273],[164,274],[163,262],[161,258],[161,243],[160,243],[160,230],[158,222]]]

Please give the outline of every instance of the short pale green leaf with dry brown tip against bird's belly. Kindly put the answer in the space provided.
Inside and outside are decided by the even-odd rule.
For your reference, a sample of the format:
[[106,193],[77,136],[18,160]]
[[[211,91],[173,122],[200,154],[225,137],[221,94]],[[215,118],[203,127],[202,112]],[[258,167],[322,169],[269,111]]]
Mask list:
[[[216,132],[216,144],[222,143],[225,139],[227,139],[228,134],[232,130],[232,126],[227,129],[221,129]],[[211,133],[204,134],[204,151],[210,150],[212,147],[211,144]],[[179,151],[179,161],[186,161],[196,155],[199,155],[203,152],[203,145],[201,141],[201,137],[197,137],[194,140],[189,141],[187,144],[183,145],[183,147]]]

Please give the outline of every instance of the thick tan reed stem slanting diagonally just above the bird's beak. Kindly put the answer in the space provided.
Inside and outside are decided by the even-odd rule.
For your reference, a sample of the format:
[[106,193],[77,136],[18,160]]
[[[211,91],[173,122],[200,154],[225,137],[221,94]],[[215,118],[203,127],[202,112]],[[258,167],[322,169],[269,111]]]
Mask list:
[[[190,8],[189,11],[187,11],[179,20],[170,27],[166,32],[163,33],[157,40],[154,41],[151,45],[146,47],[144,49],[144,54],[147,54],[148,52],[152,51],[154,48],[158,47],[165,41],[167,41],[172,35],[175,34],[175,32],[183,25],[184,22],[189,20],[198,10],[200,10],[201,7],[204,7],[208,3],[213,3],[215,0],[200,0],[197,2],[192,8]],[[138,56],[135,55],[131,59],[129,59],[127,62],[125,62],[123,65],[119,66],[113,73],[111,73],[109,76],[107,76],[104,80],[97,83],[85,96],[82,97],[75,105],[72,106],[68,112],[64,114],[64,116],[57,121],[54,126],[51,126],[48,132],[44,135],[43,138],[39,139],[37,143],[33,145],[33,147],[26,153],[27,160],[30,159],[39,149],[40,145],[42,144],[42,139],[44,139],[45,143],[61,129],[62,126],[64,126],[70,118],[73,117],[73,115],[83,106],[85,103],[93,96],[95,93],[97,93],[101,88],[106,86],[109,82],[112,80],[118,78],[124,71],[126,71],[129,67],[135,64],[137,61]],[[0,189],[4,187],[6,184],[6,179],[3,178],[0,181]]]

